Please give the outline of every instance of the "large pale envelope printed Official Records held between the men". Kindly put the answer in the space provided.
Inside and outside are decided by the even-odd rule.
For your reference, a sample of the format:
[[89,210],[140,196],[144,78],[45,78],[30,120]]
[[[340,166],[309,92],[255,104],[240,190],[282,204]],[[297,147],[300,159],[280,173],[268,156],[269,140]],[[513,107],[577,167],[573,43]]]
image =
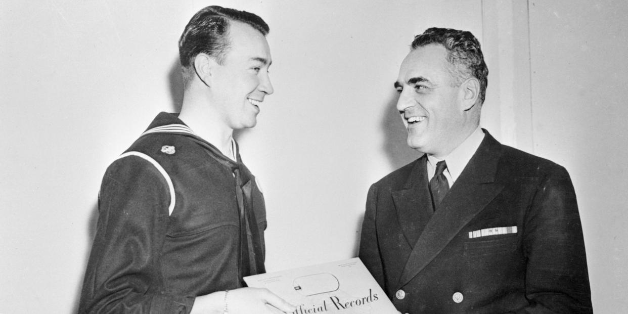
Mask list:
[[[268,288],[296,305],[291,314],[396,314],[362,261],[355,257],[244,278],[249,287]],[[279,313],[279,311],[278,311]]]

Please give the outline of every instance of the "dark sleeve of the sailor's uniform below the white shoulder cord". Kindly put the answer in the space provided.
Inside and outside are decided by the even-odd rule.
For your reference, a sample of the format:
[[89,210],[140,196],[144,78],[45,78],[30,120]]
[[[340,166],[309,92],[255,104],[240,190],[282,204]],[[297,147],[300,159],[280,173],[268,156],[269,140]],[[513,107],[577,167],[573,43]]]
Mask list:
[[94,244],[79,313],[182,314],[193,296],[168,295],[160,251],[168,224],[170,192],[149,161],[127,156],[103,178]]

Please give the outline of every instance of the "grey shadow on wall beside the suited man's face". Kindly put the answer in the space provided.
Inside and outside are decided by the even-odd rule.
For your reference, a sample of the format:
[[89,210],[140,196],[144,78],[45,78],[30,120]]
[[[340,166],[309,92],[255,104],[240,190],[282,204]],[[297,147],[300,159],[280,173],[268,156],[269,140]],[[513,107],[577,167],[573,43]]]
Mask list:
[[407,165],[422,155],[408,147],[406,142],[408,132],[403,126],[401,117],[399,117],[399,111],[396,108],[397,99],[397,94],[395,92],[391,93],[388,104],[384,106],[386,112],[381,124],[382,132],[384,133],[382,149],[384,149],[393,170]]

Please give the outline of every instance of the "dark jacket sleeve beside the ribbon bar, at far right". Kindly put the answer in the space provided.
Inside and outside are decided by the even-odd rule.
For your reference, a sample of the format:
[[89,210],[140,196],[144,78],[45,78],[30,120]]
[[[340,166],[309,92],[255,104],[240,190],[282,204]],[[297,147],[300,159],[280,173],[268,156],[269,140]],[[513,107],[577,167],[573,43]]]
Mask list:
[[524,250],[530,306],[517,313],[592,313],[576,195],[561,166],[546,176],[533,198]]

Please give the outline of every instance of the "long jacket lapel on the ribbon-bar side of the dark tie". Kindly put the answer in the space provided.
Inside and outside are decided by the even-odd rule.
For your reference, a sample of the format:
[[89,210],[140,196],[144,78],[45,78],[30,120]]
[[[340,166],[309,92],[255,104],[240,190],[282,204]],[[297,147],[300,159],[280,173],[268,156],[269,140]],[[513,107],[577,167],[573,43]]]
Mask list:
[[503,185],[495,183],[500,155],[501,144],[486,132],[482,144],[443,199],[442,209],[433,215],[414,244],[398,287],[425,268],[501,192]]

